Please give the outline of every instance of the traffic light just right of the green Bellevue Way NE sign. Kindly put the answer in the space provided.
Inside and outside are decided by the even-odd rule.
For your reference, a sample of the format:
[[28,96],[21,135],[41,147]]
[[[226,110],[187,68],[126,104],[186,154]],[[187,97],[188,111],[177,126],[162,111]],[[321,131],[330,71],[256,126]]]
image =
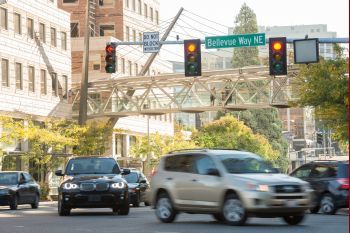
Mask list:
[[269,38],[270,75],[287,75],[287,40],[285,37]]

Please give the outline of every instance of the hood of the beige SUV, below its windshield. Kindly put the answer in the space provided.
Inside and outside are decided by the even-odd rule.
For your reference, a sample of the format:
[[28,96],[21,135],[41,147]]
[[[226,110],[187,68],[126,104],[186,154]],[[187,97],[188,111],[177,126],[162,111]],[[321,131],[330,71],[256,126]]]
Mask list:
[[305,181],[302,181],[298,178],[288,176],[285,174],[263,174],[263,173],[256,173],[256,174],[230,174],[232,179],[234,177],[239,177],[242,179],[245,179],[247,181],[256,182],[259,184],[281,184],[281,183],[298,183],[298,184],[304,184]]

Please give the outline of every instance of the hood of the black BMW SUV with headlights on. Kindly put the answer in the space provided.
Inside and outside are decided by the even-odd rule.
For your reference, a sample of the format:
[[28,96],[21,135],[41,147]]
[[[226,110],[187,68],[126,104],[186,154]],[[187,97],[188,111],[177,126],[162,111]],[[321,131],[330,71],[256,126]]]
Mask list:
[[81,183],[81,182],[94,182],[94,183],[111,183],[125,181],[118,174],[80,174],[75,176],[67,175],[64,182]]

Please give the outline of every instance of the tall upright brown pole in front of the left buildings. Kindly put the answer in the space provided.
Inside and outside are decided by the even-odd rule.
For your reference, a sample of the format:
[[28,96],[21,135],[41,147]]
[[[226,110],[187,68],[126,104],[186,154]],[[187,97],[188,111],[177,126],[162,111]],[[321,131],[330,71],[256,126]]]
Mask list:
[[85,36],[84,36],[84,56],[83,56],[83,74],[80,83],[80,101],[79,101],[79,125],[85,125],[87,120],[87,95],[89,82],[89,42],[90,42],[90,0],[86,1],[85,10]]

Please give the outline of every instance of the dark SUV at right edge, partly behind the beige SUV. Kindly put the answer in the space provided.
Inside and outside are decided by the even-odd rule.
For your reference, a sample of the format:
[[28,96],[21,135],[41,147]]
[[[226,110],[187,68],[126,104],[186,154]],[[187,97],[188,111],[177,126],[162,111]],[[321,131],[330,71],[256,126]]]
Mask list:
[[310,183],[315,190],[311,213],[321,210],[335,214],[340,208],[349,207],[349,161],[317,160],[304,164],[290,175]]

